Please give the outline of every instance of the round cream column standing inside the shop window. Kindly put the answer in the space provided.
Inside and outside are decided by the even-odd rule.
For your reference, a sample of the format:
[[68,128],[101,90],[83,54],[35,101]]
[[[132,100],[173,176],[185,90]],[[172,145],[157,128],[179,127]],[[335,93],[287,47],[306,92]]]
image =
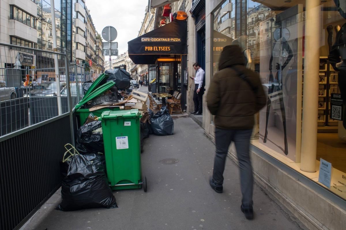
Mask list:
[[319,48],[322,33],[320,0],[306,0],[303,119],[300,169],[316,172]]

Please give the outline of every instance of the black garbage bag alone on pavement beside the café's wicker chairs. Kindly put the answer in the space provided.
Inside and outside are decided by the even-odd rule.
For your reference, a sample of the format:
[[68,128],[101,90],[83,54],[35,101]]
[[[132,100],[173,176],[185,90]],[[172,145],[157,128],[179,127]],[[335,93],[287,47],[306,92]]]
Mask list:
[[150,119],[153,133],[158,136],[172,135],[174,122],[166,106],[162,107],[153,118]]

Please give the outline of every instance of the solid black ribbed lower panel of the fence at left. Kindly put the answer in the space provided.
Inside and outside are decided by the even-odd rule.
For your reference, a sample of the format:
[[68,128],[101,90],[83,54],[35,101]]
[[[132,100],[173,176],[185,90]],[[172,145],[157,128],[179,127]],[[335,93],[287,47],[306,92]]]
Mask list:
[[65,115],[0,142],[1,230],[19,228],[60,187],[59,161],[70,141]]

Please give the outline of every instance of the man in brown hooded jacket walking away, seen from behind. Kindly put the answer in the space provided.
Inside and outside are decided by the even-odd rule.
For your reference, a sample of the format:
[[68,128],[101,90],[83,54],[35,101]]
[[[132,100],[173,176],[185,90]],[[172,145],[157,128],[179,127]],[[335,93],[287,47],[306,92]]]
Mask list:
[[213,176],[209,184],[222,192],[227,151],[234,141],[240,167],[242,205],[240,209],[247,219],[253,219],[253,176],[249,155],[250,136],[254,126],[254,114],[266,104],[266,96],[260,77],[246,69],[239,46],[226,46],[219,60],[219,71],[211,80],[207,94],[207,106],[215,115],[216,154]]

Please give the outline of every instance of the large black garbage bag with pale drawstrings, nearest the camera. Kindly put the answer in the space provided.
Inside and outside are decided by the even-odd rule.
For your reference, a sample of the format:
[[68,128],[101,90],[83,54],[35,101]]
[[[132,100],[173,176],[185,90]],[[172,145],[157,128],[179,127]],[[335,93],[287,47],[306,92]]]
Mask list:
[[103,167],[91,163],[81,154],[73,156],[61,186],[61,211],[86,208],[117,208]]

